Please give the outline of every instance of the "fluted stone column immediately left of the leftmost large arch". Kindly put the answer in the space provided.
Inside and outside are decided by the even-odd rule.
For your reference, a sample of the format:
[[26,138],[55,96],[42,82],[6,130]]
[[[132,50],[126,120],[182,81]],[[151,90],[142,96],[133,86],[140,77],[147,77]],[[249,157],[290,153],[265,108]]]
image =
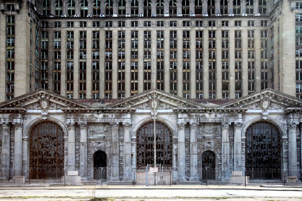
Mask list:
[[15,128],[14,168],[15,176],[22,176],[22,128],[23,123],[13,123]]

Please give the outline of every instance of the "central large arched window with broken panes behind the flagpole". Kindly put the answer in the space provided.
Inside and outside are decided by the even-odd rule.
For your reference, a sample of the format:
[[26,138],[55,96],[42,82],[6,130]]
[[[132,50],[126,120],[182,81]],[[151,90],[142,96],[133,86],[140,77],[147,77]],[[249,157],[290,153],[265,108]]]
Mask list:
[[[137,131],[137,167],[154,164],[154,124],[148,122]],[[163,123],[156,123],[156,164],[172,166],[172,133]]]

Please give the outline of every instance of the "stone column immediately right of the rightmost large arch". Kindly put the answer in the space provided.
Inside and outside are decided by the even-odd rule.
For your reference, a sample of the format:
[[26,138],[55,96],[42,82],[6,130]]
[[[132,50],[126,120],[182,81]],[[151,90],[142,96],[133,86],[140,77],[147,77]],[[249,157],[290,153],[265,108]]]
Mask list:
[[288,176],[297,176],[297,124],[288,121]]

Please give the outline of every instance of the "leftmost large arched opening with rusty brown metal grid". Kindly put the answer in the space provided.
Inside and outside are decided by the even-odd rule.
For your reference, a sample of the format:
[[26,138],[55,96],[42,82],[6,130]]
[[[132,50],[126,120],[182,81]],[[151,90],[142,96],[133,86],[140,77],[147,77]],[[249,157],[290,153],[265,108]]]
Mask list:
[[64,175],[64,133],[53,122],[35,125],[29,137],[31,179],[61,178]]

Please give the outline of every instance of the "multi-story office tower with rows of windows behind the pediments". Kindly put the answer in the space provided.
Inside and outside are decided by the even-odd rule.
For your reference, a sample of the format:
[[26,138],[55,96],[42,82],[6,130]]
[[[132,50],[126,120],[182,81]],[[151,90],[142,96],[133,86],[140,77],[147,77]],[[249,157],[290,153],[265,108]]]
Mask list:
[[73,99],[123,99],[152,88],[190,99],[265,88],[301,97],[301,5],[1,0],[0,100],[38,88]]

